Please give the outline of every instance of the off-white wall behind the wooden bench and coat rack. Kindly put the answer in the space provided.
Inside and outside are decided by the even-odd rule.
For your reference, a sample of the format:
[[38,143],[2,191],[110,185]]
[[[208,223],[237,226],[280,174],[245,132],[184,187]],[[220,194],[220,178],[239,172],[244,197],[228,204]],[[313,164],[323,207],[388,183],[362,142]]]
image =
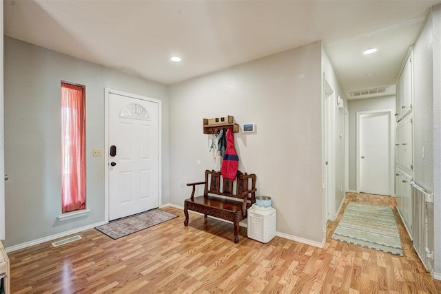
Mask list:
[[257,175],[258,195],[271,196],[277,231],[321,244],[320,55],[316,42],[172,85],[170,201],[183,205],[185,183],[214,166],[203,118],[232,115],[256,124],[255,134],[235,134],[239,169]]

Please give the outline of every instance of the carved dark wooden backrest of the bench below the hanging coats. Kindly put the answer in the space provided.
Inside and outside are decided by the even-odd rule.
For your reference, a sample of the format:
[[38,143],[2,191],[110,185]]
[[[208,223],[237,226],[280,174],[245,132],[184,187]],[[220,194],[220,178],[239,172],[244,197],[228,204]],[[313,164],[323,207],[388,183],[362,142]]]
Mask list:
[[[236,193],[234,193],[234,188],[236,188]],[[208,193],[228,196],[238,199],[243,199],[243,192],[252,190],[248,193],[248,200],[251,203],[256,202],[256,175],[255,174],[243,174],[238,171],[235,180],[229,180],[223,178],[220,171],[205,171],[205,189],[204,196]]]

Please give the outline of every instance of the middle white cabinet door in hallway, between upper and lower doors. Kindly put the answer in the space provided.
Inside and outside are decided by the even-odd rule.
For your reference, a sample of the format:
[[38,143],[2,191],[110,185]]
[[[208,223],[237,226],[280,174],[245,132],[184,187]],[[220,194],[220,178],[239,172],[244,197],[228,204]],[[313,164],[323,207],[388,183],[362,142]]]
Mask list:
[[405,116],[397,124],[396,134],[397,167],[412,174],[413,171],[413,118]]

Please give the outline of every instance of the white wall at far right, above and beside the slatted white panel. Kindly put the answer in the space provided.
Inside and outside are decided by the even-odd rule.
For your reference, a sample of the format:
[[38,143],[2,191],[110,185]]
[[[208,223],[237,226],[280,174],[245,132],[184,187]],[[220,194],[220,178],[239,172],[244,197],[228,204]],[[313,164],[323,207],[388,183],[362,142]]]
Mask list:
[[[432,8],[413,51],[414,181],[433,193],[435,278],[441,280],[441,5]],[[425,156],[422,158],[422,147]]]

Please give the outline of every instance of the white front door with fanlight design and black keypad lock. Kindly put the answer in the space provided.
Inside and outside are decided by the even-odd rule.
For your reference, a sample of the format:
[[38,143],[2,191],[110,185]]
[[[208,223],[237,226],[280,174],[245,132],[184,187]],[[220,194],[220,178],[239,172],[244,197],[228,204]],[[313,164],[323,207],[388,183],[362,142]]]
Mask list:
[[158,207],[158,103],[109,94],[109,220]]

